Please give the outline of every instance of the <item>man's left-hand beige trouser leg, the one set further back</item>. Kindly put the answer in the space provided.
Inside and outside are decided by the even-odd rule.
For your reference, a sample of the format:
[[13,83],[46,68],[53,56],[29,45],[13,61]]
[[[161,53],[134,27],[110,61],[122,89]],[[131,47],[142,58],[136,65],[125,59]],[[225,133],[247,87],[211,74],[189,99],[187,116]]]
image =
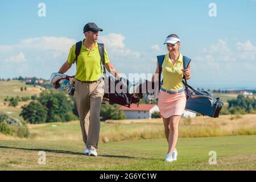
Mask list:
[[89,84],[76,81],[76,107],[79,113],[82,140],[86,144],[90,116]]

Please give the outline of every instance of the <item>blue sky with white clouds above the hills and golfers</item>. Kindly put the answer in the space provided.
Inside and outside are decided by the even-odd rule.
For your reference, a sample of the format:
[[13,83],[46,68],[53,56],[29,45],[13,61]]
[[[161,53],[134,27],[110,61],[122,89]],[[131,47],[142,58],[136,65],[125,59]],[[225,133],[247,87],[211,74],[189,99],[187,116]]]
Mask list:
[[[45,3],[46,17],[38,16]],[[217,16],[208,7],[215,3]],[[119,72],[154,73],[167,35],[192,59],[200,88],[256,88],[256,1],[0,1],[0,77],[49,78],[95,22]],[[75,74],[75,65],[67,72]]]

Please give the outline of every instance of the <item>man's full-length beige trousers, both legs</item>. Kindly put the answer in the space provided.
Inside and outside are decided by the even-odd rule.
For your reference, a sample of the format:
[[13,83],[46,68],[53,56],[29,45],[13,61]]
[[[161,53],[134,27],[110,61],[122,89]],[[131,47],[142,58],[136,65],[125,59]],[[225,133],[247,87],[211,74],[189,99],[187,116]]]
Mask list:
[[98,148],[100,110],[104,88],[103,79],[93,83],[75,81],[76,107],[79,113],[82,140],[88,148]]

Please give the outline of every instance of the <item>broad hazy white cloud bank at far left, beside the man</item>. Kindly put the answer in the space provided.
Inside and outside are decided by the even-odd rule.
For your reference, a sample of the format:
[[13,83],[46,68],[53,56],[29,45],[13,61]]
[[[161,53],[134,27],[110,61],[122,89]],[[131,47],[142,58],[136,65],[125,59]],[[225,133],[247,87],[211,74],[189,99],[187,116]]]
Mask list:
[[23,39],[9,46],[1,45],[0,77],[23,74],[48,78],[67,60],[69,49],[75,42],[75,39],[64,37],[42,37]]

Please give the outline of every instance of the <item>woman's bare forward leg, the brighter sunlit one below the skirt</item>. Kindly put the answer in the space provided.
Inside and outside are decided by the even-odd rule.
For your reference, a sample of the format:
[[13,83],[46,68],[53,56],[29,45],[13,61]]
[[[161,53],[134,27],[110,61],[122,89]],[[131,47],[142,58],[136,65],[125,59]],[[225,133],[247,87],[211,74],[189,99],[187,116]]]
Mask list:
[[177,138],[178,138],[178,134],[179,134],[179,121],[180,121],[180,115],[173,115],[171,117],[170,120],[170,134],[169,134],[169,138],[168,138],[168,143],[169,143],[169,147],[168,147],[168,152],[167,154],[171,154],[172,152],[174,152],[174,150],[176,150],[176,143],[177,143]]

